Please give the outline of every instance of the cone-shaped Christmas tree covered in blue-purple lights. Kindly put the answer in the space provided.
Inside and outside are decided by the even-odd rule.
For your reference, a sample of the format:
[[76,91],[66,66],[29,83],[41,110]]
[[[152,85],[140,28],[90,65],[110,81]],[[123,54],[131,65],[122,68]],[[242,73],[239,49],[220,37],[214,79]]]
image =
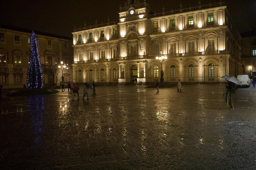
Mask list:
[[38,54],[37,41],[34,31],[31,37],[31,56],[28,69],[28,87],[31,89],[43,87],[43,77],[41,71],[40,58]]

